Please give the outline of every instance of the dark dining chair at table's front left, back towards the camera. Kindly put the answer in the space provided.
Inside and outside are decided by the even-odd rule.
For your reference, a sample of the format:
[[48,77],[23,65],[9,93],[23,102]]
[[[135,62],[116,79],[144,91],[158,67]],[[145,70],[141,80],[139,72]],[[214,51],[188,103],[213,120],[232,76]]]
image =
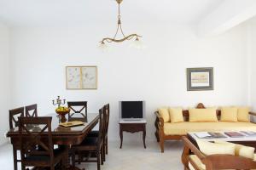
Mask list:
[[21,169],[26,167],[49,167],[55,169],[65,157],[66,150],[54,150],[51,133],[52,117],[20,117]]

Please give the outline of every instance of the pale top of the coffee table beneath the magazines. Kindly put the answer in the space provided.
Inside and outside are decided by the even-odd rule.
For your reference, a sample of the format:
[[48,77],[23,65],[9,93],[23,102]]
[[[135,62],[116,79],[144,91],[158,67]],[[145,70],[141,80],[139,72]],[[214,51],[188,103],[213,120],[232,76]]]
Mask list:
[[[238,131],[234,131],[234,132],[238,132]],[[197,140],[197,139],[201,139],[201,140],[205,140],[205,141],[214,141],[214,140],[223,140],[223,141],[227,141],[227,142],[244,142],[244,141],[256,141],[256,136],[242,136],[242,137],[233,137],[231,138],[230,136],[224,134],[224,132],[216,132],[216,133],[222,133],[226,138],[208,138],[208,139],[203,139],[203,138],[198,138],[195,133],[199,133],[199,132],[189,132],[188,136],[191,139]],[[200,133],[207,133],[207,132],[200,132]],[[240,132],[238,132],[240,133]]]

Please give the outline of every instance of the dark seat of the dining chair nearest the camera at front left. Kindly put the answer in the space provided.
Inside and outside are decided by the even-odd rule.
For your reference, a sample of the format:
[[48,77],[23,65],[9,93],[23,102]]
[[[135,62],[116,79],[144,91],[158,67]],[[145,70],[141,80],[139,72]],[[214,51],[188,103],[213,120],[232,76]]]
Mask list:
[[[62,149],[56,149],[54,150],[54,159],[55,160],[60,160],[61,156],[63,155],[65,150]],[[50,161],[50,157],[49,156],[42,156],[42,155],[38,155],[38,156],[26,156],[25,158],[26,162],[30,162],[30,161],[37,161],[37,162],[49,162]]]

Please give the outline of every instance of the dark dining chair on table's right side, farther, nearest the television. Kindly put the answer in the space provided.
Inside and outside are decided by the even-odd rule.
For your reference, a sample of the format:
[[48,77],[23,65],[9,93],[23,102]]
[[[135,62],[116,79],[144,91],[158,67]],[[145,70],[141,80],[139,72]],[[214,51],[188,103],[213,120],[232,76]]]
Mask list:
[[[109,110],[109,104],[104,105],[103,107],[104,111],[103,113],[105,114],[105,129],[104,129],[104,156],[103,156],[103,161],[105,161],[105,154],[108,155],[108,124],[109,124],[109,114],[110,114],[110,110]],[[99,131],[91,131],[88,136],[90,137],[97,137],[98,136]]]

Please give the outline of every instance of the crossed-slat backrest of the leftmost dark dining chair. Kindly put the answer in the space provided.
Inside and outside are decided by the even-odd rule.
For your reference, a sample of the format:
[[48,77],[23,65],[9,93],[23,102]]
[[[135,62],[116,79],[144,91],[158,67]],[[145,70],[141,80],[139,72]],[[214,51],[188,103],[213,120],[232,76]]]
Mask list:
[[[15,116],[17,116],[15,118]],[[9,110],[9,128],[19,127],[18,117],[24,116],[24,107]]]

